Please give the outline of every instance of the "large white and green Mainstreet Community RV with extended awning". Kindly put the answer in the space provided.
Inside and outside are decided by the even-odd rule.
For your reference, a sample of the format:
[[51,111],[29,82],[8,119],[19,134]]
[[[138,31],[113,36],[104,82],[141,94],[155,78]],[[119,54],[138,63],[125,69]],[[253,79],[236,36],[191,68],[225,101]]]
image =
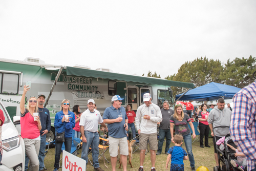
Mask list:
[[174,102],[170,87],[194,87],[193,83],[113,73],[109,69],[49,65],[37,58],[0,58],[0,101],[6,106],[11,118],[20,116],[19,101],[26,81],[31,81],[31,90],[27,92],[26,99],[37,97],[38,94],[46,95],[45,106],[52,119],[47,141],[54,140],[54,117],[60,111],[63,99],[71,101],[71,108],[78,104],[83,112],[87,109],[88,99],[92,98],[103,114],[105,108],[111,106],[111,98],[120,95],[124,98],[122,105],[130,104],[136,111],[143,104],[144,93],[151,93],[152,102],[161,107],[165,100],[170,104]]

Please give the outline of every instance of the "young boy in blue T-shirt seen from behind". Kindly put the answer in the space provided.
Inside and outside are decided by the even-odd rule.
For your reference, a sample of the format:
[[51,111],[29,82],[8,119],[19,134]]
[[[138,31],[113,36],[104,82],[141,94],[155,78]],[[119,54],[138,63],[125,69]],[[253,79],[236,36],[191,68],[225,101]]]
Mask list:
[[182,141],[182,135],[176,134],[174,136],[175,146],[170,147],[167,152],[168,157],[166,160],[165,168],[168,169],[168,163],[170,161],[170,158],[172,158],[172,162],[170,163],[170,171],[184,171],[183,160],[187,160],[188,157],[186,151],[181,147],[181,144],[183,143]]

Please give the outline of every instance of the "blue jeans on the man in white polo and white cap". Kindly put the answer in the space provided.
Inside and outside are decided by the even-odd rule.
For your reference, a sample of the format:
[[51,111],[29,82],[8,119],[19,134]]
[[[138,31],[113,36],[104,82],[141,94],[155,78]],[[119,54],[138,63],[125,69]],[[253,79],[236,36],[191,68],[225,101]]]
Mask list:
[[99,134],[98,132],[90,132],[84,131],[84,136],[86,136],[87,142],[82,143],[82,155],[81,159],[86,160],[86,164],[88,164],[88,152],[91,145],[92,148],[92,156],[93,156],[93,167],[99,167]]

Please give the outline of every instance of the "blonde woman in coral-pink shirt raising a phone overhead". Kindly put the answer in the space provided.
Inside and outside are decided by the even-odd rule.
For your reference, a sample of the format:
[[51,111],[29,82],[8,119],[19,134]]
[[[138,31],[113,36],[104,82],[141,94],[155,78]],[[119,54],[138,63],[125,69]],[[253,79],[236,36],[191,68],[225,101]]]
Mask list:
[[[29,91],[29,86],[24,86],[22,99],[19,103],[20,108],[20,127],[21,135],[25,143],[25,152],[29,157],[30,166],[29,170],[39,170],[38,154],[40,149],[40,130],[41,122],[39,116],[34,116],[37,113],[37,99],[30,97],[27,108],[25,108],[26,93]],[[37,113],[38,114],[38,113]]]

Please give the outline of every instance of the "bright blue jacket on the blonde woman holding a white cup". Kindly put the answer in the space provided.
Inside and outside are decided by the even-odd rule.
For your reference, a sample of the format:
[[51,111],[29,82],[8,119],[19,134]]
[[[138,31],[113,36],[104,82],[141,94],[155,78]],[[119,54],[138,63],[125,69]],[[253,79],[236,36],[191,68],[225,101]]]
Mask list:
[[57,129],[57,133],[65,131],[65,138],[72,137],[73,127],[75,127],[76,119],[75,114],[69,111],[69,122],[62,122],[62,118],[65,116],[63,111],[56,113],[54,120],[54,127]]

